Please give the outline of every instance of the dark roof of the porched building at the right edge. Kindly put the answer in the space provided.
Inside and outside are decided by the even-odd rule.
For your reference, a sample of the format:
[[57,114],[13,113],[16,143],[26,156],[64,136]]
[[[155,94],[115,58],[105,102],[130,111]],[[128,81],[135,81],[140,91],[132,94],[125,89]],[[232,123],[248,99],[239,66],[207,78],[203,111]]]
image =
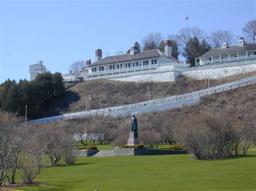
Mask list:
[[231,54],[244,51],[252,51],[256,49],[256,43],[246,44],[244,46],[230,46],[227,48],[213,48],[210,51],[200,55],[199,57],[214,56],[222,54]]

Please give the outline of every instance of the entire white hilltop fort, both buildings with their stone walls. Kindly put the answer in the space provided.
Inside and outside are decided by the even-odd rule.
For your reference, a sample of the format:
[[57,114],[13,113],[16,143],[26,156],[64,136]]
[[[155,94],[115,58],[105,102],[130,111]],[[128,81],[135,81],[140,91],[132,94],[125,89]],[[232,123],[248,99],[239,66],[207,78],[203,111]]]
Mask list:
[[[86,67],[77,73],[63,75],[66,82],[93,79],[109,79],[133,82],[174,81],[180,75],[207,78],[208,75],[224,77],[254,71],[256,62],[256,43],[245,44],[244,38],[237,46],[213,48],[196,58],[196,67],[189,67],[172,56],[172,45],[165,40],[165,51],[152,49],[138,52],[131,46],[129,54],[106,56],[102,58],[102,49],[95,51],[95,62],[86,60]],[[217,75],[217,74],[221,75]]]

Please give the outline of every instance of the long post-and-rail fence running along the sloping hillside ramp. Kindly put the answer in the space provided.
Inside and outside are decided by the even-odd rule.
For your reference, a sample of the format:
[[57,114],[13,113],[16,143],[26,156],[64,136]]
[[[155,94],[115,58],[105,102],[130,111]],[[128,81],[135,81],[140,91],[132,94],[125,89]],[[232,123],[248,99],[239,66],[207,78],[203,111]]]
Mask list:
[[[134,103],[130,105],[120,105],[118,107],[110,107],[110,108],[103,108],[103,109],[96,109],[92,111],[85,111],[83,114],[69,114],[69,116],[56,116],[56,117],[48,117],[43,119],[35,119],[33,121],[27,122],[27,124],[40,124],[40,123],[49,123],[49,122],[56,122],[56,121],[63,121],[67,119],[76,119],[82,117],[90,117],[90,116],[97,116],[97,115],[106,115],[110,114],[111,112],[119,112],[124,110],[131,110],[131,109],[138,109],[138,108],[145,108],[153,105],[161,105],[165,103],[189,100],[191,98],[201,97],[205,95],[220,93],[227,90],[232,90],[235,88],[240,88],[244,86],[248,86],[250,84],[256,83],[256,76],[247,78],[248,80],[242,81],[239,83],[230,84],[228,83],[227,86],[219,85],[215,87],[211,87],[210,89],[204,89],[199,91],[194,91],[193,93],[177,95],[161,98],[158,100],[151,100],[146,102]],[[232,83],[232,82],[231,82]]]

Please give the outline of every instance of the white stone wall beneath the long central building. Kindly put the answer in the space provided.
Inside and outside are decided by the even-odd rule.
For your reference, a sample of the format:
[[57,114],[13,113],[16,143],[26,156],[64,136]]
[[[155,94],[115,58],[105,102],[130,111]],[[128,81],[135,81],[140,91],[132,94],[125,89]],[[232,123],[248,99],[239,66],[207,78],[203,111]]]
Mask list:
[[172,82],[174,81],[174,71],[132,75],[127,77],[114,77],[109,80],[125,82]]

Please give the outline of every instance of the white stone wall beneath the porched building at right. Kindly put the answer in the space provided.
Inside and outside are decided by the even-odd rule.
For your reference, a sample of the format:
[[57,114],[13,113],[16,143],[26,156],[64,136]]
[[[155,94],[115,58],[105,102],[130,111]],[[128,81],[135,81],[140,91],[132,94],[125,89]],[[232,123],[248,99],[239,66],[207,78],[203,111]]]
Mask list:
[[183,72],[184,76],[192,77],[194,79],[220,79],[230,75],[235,75],[244,72],[256,71],[256,64],[241,65],[241,66],[230,66],[223,68],[211,68],[211,69],[200,69]]

